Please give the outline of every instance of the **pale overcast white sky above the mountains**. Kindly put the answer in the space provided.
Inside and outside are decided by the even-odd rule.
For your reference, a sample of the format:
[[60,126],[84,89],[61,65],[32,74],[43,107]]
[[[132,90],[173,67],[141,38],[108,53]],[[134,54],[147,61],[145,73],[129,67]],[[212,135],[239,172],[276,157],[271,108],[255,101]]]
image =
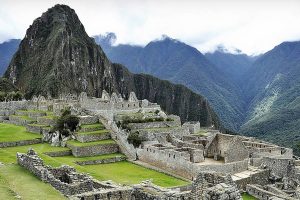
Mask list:
[[0,42],[23,38],[57,3],[75,9],[90,36],[115,32],[117,43],[166,34],[202,52],[224,45],[258,54],[300,40],[300,0],[0,0]]

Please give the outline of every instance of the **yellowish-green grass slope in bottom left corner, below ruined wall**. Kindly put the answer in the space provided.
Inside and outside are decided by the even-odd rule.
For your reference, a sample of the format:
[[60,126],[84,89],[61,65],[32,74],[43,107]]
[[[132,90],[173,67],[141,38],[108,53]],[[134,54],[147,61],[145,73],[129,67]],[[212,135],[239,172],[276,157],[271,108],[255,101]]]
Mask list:
[[0,166],[0,199],[13,200],[66,199],[50,184],[40,181],[28,170],[17,164]]

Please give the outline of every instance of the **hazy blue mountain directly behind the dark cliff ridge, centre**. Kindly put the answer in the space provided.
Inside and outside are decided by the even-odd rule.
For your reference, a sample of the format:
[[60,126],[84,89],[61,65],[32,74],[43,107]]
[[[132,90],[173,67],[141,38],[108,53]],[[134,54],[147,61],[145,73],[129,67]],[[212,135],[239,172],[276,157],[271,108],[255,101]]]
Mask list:
[[[244,119],[241,90],[231,78],[220,73],[197,49],[165,36],[145,47],[111,45],[110,38],[96,37],[108,57],[128,67],[132,72],[142,72],[180,83],[204,95],[228,129],[238,130]],[[116,39],[114,35],[114,40]]]

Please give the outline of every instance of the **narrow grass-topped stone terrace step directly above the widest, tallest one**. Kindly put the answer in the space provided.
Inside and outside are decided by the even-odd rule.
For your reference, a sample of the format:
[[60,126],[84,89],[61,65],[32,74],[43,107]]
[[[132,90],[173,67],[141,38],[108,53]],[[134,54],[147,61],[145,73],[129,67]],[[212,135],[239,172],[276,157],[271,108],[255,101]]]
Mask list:
[[77,132],[75,133],[75,136],[79,142],[93,142],[111,138],[110,132],[107,129],[91,132]]

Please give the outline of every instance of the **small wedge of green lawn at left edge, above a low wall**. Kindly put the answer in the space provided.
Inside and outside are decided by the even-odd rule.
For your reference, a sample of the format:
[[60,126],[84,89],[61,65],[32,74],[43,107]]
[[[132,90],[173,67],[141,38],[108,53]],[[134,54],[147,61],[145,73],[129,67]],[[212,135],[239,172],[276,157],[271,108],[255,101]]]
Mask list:
[[40,138],[36,133],[29,133],[24,126],[0,123],[0,142],[31,140]]

